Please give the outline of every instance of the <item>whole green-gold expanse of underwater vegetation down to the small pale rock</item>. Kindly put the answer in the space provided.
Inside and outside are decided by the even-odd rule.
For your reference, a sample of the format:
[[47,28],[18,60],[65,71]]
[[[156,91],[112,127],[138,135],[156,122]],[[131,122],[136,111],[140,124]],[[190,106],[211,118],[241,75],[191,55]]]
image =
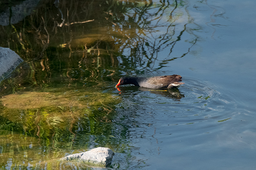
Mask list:
[[[94,141],[100,146],[113,146],[112,118],[120,99],[110,93],[92,88],[21,92],[3,96],[0,101],[1,162],[8,162],[13,153],[14,165],[23,160],[25,164],[44,166],[33,161],[41,161],[42,154],[47,155],[43,160],[48,160],[65,156],[70,150],[84,151]],[[40,148],[49,151],[44,153]],[[42,153],[34,157],[35,151]]]

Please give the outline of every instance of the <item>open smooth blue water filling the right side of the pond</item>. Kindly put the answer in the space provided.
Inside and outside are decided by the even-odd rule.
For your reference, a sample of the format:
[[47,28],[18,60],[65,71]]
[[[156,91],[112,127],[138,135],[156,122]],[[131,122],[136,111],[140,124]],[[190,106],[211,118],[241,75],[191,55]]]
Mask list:
[[[180,19],[192,21],[187,25],[187,33],[171,54],[170,48],[155,53],[157,62],[152,70],[170,58],[178,58],[164,63],[167,67],[157,73],[148,73],[148,76],[180,74],[186,83],[179,87],[184,97],[175,100],[168,92],[154,94],[136,87],[122,90],[125,109],[117,113],[118,117],[128,117],[126,123],[131,126],[127,136],[134,156],[131,169],[141,166],[142,169],[254,169],[256,166],[256,3],[201,2],[186,2],[183,12],[189,11],[190,16]],[[181,24],[178,29],[182,28]],[[199,29],[193,30],[196,28]],[[194,45],[188,43],[195,38]],[[148,54],[152,54],[150,50]],[[116,157],[114,162],[124,156]]]

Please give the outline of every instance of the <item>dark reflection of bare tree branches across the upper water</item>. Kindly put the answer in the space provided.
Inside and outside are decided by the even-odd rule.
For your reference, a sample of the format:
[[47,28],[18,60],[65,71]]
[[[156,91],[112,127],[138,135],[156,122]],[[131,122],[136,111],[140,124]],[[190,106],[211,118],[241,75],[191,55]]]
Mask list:
[[[68,56],[64,63],[80,55],[80,63],[75,61],[73,67],[90,61],[107,70],[109,60],[111,75],[152,72],[185,56],[196,43],[198,37],[191,31],[196,25],[187,5],[186,1],[42,2],[24,21],[0,28],[1,39],[7,40],[0,45],[15,50],[33,69],[33,63],[40,61],[38,67],[47,72],[56,62],[51,55]],[[181,39],[183,48],[176,49]]]

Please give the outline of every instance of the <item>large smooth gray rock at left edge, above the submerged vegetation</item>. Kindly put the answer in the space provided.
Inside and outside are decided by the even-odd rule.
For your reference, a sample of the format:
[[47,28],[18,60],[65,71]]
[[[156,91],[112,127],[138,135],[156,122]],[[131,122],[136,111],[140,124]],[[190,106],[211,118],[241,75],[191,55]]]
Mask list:
[[15,70],[22,61],[10,48],[0,47],[0,81]]

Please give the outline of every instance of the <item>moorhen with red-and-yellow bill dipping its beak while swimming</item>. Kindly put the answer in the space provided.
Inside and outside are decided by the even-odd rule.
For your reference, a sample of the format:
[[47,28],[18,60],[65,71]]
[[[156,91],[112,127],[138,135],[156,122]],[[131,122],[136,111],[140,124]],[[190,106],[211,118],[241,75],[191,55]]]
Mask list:
[[156,76],[156,77],[122,77],[116,86],[119,85],[136,85],[139,87],[147,87],[152,89],[158,88],[174,88],[179,85],[183,85],[185,83],[179,82],[181,80],[181,76],[174,74],[171,76]]

